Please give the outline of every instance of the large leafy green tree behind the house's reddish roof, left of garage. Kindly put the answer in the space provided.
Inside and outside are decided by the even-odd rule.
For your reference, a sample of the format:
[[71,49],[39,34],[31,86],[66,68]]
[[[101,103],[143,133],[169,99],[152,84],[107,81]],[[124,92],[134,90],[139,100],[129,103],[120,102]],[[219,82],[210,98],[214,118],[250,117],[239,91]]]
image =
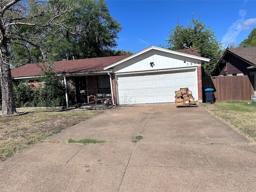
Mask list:
[[[59,35],[45,33],[42,46],[49,53],[48,58],[56,61],[114,55],[116,40],[122,27],[110,16],[106,2],[104,0],[75,2],[78,6],[72,11],[72,17],[66,21],[73,30],[52,26],[52,30],[58,31]],[[40,39],[38,41],[42,42]],[[15,45],[12,52],[16,55],[17,65],[42,60],[40,52],[33,47],[26,49]]]

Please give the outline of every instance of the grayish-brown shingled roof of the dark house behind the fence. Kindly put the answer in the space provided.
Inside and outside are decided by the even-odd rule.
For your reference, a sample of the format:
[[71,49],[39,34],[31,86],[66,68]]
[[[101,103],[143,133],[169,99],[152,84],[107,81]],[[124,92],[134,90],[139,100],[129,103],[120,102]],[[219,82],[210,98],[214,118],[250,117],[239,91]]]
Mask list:
[[226,52],[236,55],[238,58],[244,59],[253,65],[256,65],[256,47],[242,47],[226,49]]

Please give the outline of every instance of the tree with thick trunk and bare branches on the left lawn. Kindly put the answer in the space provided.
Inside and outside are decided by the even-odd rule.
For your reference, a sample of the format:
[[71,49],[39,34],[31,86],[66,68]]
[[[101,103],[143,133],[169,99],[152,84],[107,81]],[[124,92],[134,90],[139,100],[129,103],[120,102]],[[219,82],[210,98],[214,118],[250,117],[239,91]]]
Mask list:
[[56,34],[56,28],[52,26],[58,26],[61,29],[70,28],[65,22],[70,18],[70,13],[75,7],[74,2],[68,0],[0,1],[2,114],[16,113],[10,70],[14,59],[11,48],[14,45],[20,45],[28,50],[33,46],[37,48],[42,60],[46,61],[47,52],[41,46],[41,42],[45,42],[47,34]]

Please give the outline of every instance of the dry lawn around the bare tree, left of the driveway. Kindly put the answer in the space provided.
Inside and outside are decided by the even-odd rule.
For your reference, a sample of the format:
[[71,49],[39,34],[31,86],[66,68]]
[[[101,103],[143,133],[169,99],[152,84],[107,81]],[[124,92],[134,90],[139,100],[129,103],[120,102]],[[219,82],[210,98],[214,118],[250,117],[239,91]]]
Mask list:
[[31,109],[27,112],[21,116],[0,117],[0,161],[103,110]]

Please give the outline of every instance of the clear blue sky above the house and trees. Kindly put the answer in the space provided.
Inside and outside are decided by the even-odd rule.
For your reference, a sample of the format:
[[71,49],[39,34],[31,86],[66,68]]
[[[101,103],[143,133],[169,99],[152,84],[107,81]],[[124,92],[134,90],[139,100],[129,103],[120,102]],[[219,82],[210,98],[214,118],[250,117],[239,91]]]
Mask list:
[[200,17],[218,42],[240,44],[256,28],[256,0],[106,0],[110,16],[123,27],[116,49],[136,53],[149,46],[167,46],[177,23],[187,26]]

